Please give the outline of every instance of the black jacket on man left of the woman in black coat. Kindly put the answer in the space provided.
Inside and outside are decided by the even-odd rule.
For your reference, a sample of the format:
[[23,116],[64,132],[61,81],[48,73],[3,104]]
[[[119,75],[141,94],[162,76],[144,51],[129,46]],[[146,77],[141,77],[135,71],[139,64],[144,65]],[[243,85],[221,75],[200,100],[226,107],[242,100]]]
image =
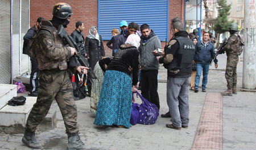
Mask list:
[[85,51],[84,35],[82,34],[82,32],[74,30],[71,34],[71,37],[76,41],[77,45],[79,46],[79,50],[80,50],[80,52],[82,53],[83,56],[84,56],[85,53],[88,53],[88,52]]

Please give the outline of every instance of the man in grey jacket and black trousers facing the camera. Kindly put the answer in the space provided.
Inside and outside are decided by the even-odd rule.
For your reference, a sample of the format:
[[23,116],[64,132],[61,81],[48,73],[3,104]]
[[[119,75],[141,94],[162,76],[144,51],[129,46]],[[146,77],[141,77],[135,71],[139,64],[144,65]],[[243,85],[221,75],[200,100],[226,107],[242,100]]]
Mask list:
[[158,109],[159,96],[158,96],[158,69],[159,62],[156,60],[156,56],[161,54],[152,53],[155,49],[161,49],[161,42],[150,30],[148,24],[142,24],[141,26],[141,46],[139,47],[140,52],[140,64],[141,64],[141,94],[148,101],[154,103]]

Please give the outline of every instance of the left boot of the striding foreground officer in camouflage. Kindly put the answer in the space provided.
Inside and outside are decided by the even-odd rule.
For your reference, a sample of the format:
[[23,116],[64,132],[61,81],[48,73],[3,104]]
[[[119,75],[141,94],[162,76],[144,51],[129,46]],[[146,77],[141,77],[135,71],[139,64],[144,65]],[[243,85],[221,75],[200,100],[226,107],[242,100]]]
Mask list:
[[22,142],[27,145],[27,147],[41,149],[42,145],[38,143],[35,138],[35,132],[25,131],[22,138]]

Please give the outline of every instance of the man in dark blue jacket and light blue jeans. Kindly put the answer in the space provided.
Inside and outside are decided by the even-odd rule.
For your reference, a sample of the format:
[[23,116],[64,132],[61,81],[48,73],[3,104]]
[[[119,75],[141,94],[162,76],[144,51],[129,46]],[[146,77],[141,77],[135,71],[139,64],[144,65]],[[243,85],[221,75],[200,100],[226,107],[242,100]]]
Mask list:
[[[201,77],[201,72],[203,70],[203,82],[202,82],[202,91],[206,91],[209,65],[212,63],[212,59],[215,57],[214,45],[209,41],[209,33],[204,32],[203,40],[197,42],[195,48],[195,55],[193,61],[196,62],[196,80],[195,80],[195,93],[199,90],[199,82]],[[214,59],[215,68],[218,68],[218,60]]]

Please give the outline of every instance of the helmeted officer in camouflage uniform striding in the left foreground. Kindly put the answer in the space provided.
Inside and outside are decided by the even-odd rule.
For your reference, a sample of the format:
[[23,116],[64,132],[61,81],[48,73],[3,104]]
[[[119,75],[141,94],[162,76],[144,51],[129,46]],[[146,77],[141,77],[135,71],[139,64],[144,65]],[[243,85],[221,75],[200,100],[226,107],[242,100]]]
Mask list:
[[30,148],[40,149],[42,145],[35,138],[38,124],[47,115],[53,99],[59,105],[68,134],[68,149],[84,149],[78,135],[77,107],[73,99],[73,88],[68,76],[68,68],[73,72],[87,73],[85,66],[68,65],[68,61],[76,53],[72,47],[66,47],[63,39],[57,36],[57,27],[67,27],[72,15],[71,6],[57,3],[53,7],[52,20],[43,20],[42,28],[34,40],[34,54],[38,60],[39,89],[38,98],[27,119],[26,130],[22,142]]

